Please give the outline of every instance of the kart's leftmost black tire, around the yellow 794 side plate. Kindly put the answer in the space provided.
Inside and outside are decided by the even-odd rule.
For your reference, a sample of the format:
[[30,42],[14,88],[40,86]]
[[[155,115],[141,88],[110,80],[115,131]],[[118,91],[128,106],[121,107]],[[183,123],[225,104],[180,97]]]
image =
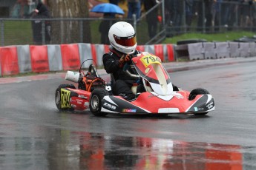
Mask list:
[[70,88],[70,89],[76,89],[76,87],[73,84],[61,84],[56,89],[55,92],[55,103],[59,111],[73,111],[73,108],[62,108],[62,98],[61,98],[61,89],[62,88]]

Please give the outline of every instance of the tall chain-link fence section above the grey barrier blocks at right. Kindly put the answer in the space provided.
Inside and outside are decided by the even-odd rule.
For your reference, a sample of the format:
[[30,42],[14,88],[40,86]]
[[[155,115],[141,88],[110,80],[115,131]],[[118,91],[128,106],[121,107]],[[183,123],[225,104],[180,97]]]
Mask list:
[[168,36],[256,30],[255,0],[165,0]]

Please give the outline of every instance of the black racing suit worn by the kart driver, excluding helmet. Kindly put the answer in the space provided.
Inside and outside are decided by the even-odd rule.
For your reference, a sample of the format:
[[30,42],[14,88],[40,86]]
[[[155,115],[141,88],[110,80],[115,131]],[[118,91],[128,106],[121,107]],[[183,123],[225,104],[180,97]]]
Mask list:
[[[140,53],[135,50],[131,55],[137,55]],[[110,52],[103,55],[103,64],[107,73],[114,78],[114,84],[112,86],[113,94],[122,96],[127,101],[135,98],[134,93],[131,91],[131,86],[138,81],[138,78],[131,78],[124,70],[119,66],[119,59],[122,55],[126,55],[117,51],[114,48],[110,49]]]

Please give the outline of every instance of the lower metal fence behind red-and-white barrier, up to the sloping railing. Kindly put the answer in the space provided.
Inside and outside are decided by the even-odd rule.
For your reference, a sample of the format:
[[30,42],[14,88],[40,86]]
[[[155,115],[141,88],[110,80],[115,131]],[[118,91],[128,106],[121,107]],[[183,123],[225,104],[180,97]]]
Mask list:
[[[152,38],[164,32],[163,2],[137,19],[123,18],[34,18],[29,11],[23,17],[0,18],[1,46],[22,44],[108,44],[108,30],[116,21],[131,23],[137,32],[138,44],[150,44]],[[12,17],[13,16],[13,17]],[[104,23],[104,24],[103,24]],[[102,27],[103,29],[100,29]],[[102,38],[102,35],[104,36]],[[154,41],[156,42],[156,41]]]

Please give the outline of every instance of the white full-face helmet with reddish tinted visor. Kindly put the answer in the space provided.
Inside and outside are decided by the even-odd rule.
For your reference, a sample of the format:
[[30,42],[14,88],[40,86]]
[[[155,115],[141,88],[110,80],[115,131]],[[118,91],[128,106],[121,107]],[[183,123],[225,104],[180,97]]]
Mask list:
[[108,31],[108,38],[111,46],[119,52],[132,54],[137,47],[134,27],[128,22],[119,21],[113,24]]

